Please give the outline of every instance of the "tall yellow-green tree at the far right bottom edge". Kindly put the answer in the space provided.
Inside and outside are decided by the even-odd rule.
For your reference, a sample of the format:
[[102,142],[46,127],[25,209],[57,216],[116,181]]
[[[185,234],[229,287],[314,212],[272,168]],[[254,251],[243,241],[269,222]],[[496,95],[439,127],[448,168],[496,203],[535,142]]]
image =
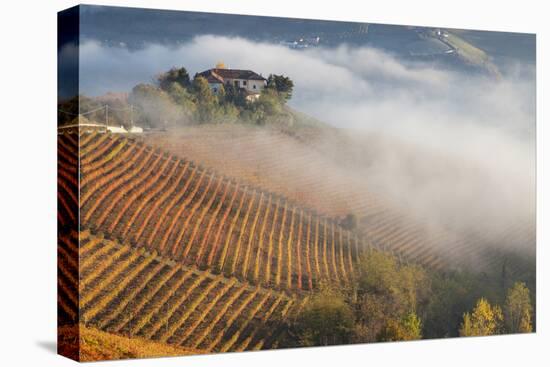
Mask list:
[[525,283],[515,283],[508,290],[504,304],[504,320],[507,331],[510,333],[532,332],[531,312],[529,288]]

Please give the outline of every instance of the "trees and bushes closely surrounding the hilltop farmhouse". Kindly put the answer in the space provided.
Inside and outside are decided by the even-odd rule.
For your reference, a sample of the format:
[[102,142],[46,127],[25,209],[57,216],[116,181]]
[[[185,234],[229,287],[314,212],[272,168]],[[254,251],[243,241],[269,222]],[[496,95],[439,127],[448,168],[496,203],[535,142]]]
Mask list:
[[128,102],[136,107],[136,119],[144,126],[244,122],[264,124],[283,114],[294,84],[283,75],[270,75],[256,101],[232,84],[214,93],[199,75],[191,80],[185,68],[160,74],[154,84],[136,85]]

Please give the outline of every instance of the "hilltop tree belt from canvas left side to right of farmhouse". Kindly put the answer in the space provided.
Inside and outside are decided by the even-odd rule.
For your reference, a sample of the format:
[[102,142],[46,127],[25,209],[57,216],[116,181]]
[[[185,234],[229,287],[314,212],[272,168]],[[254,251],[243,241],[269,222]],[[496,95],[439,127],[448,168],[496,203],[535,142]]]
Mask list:
[[[173,68],[153,83],[134,86],[127,98],[81,95],[64,101],[58,105],[58,123],[77,122],[81,114],[81,119],[124,127],[132,123],[149,128],[234,122],[262,125],[291,119],[284,105],[292,98],[293,88],[290,78],[271,74],[259,98],[249,101],[246,92],[232,84],[214,93],[204,77],[191,79],[184,67]],[[108,112],[102,108],[106,105]]]

